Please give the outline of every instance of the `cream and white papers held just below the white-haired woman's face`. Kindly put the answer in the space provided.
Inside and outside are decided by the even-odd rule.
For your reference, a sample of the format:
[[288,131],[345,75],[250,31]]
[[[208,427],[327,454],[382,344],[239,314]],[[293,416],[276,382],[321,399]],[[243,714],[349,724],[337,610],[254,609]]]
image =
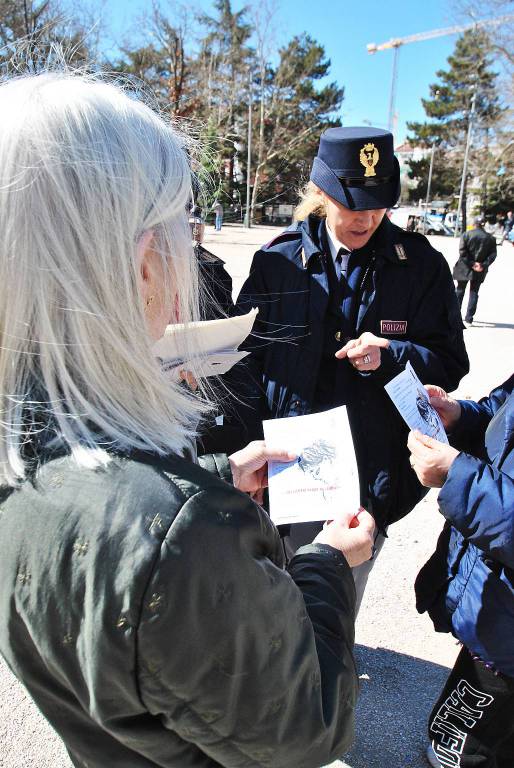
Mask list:
[[195,359],[195,370],[203,377],[220,375],[249,353],[239,351],[239,345],[252,330],[258,309],[246,315],[204,320],[198,323],[168,325],[164,335],[153,346],[163,370],[187,370]]

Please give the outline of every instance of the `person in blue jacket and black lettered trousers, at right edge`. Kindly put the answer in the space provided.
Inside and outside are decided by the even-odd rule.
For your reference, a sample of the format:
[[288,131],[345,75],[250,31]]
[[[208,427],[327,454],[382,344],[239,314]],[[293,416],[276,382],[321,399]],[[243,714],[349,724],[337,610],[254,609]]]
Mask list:
[[451,445],[411,433],[411,464],[446,522],[417,608],[462,643],[429,719],[429,762],[514,766],[514,375],[478,403],[427,387]]

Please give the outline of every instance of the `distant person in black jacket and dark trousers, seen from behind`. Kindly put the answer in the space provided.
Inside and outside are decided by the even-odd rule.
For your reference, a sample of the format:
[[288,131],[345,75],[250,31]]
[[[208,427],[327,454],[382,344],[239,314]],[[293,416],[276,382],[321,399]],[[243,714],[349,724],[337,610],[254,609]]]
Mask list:
[[453,279],[457,281],[456,293],[459,306],[469,282],[469,301],[464,322],[472,325],[478,304],[478,292],[487,271],[496,258],[496,240],[484,232],[484,222],[477,218],[475,228],[465,232],[460,239],[459,260],[453,268]]

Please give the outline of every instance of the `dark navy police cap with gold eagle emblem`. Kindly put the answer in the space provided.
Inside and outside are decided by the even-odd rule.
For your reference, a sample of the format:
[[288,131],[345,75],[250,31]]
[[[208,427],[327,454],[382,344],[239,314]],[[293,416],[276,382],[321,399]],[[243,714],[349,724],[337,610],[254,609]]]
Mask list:
[[321,135],[311,181],[351,210],[392,208],[400,197],[393,134],[380,128],[329,128]]

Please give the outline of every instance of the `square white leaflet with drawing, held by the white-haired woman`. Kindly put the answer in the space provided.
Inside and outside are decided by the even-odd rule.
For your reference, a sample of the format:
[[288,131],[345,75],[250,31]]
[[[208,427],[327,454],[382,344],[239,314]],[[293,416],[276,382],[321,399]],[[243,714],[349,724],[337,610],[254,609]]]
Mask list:
[[268,467],[270,515],[276,525],[332,520],[359,508],[359,475],[346,407],[264,421],[269,448],[298,454]]

